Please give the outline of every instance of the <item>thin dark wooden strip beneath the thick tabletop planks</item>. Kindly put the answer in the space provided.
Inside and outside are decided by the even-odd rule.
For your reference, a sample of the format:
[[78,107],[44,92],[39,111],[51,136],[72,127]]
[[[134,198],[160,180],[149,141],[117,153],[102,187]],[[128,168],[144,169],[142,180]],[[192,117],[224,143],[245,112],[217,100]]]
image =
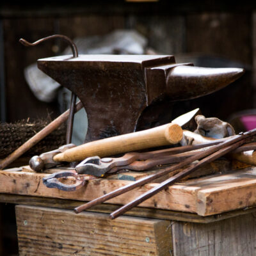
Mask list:
[[[41,196],[21,196],[21,195],[9,195],[0,194],[0,202],[5,204],[22,204],[22,205],[34,205],[40,207],[54,207],[58,209],[73,210],[75,207],[81,205],[81,201],[67,200],[58,198],[47,198]],[[100,204],[95,205],[87,211],[111,213],[118,209],[119,205],[114,204]],[[186,221],[193,223],[212,223],[215,221],[226,220],[236,216],[249,214],[255,212],[256,207],[247,207],[245,209],[239,209],[231,212],[223,212],[222,214],[215,214],[211,216],[199,216],[198,214],[191,212],[178,212],[162,209],[151,209],[146,207],[134,207],[130,211],[125,212],[124,215],[154,218],[159,220],[175,220]]]

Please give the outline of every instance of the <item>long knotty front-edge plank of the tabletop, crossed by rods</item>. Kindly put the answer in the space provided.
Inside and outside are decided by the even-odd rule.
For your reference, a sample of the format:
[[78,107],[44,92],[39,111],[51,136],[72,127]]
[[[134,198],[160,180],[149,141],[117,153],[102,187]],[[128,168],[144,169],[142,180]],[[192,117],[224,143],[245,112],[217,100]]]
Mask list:
[[[42,183],[42,178],[45,175],[47,174],[0,171],[0,193],[90,201],[132,182],[129,180],[96,179],[90,180],[83,188],[77,191],[67,192],[46,188]],[[155,183],[146,184],[124,195],[116,196],[109,200],[108,203],[126,204],[154,186],[156,186]],[[189,187],[188,189],[183,189],[180,194],[180,185],[175,185],[171,189],[161,191],[152,198],[149,198],[140,206],[196,212],[195,190],[196,188]]]

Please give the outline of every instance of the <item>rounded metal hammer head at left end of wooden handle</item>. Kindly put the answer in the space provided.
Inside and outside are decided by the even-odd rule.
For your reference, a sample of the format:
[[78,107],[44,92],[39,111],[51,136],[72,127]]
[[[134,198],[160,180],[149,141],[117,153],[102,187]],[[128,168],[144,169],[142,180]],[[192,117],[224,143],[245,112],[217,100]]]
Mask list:
[[35,172],[42,172],[42,170],[57,166],[61,163],[54,161],[53,157],[59,153],[64,152],[68,148],[73,148],[73,147],[76,147],[76,145],[70,143],[68,145],[63,145],[58,149],[40,154],[40,156],[33,156],[29,160],[29,166]]

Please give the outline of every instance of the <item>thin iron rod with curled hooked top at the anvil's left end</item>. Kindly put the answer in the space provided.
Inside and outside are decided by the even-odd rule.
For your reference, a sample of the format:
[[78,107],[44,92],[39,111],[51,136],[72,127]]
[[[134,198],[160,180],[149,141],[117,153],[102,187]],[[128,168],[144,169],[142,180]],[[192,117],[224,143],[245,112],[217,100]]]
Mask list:
[[[39,40],[37,40],[36,42],[33,42],[33,43],[29,43],[27,40],[25,40],[23,38],[20,38],[19,42],[21,44],[25,45],[25,46],[34,46],[34,45],[38,45],[38,44],[40,44],[40,43],[42,43],[46,40],[52,39],[52,38],[61,38],[63,40],[66,40],[68,42],[68,44],[70,45],[71,49],[72,49],[73,58],[78,57],[78,51],[77,51],[76,44],[74,44],[74,42],[68,36],[51,35],[51,36],[47,36],[45,38],[41,38],[41,39],[39,39]],[[72,139],[72,130],[73,130],[75,108],[76,108],[76,94],[72,92],[71,101],[70,101],[70,113],[69,113],[69,116],[68,116],[67,134],[66,134],[67,144],[71,143],[71,139]]]

